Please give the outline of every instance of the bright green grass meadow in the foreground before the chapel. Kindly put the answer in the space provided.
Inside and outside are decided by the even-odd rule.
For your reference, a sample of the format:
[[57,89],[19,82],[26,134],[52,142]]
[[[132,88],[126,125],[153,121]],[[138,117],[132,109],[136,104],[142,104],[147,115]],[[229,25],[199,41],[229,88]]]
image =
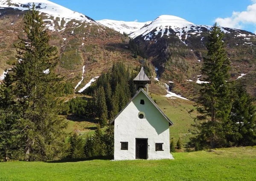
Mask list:
[[256,180],[256,147],[174,153],[175,160],[0,163],[0,180]]

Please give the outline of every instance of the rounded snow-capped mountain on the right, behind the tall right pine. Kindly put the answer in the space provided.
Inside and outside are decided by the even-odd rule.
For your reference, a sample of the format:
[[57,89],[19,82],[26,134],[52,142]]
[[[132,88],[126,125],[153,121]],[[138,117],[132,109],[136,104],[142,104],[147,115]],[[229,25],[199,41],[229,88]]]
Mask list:
[[[137,42],[157,68],[160,80],[175,82],[173,91],[193,97],[199,89],[197,84],[201,83],[198,76],[207,56],[210,28],[180,17],[162,15],[129,37]],[[230,80],[244,82],[247,90],[256,96],[256,35],[234,28],[221,27],[221,31],[231,60]]]

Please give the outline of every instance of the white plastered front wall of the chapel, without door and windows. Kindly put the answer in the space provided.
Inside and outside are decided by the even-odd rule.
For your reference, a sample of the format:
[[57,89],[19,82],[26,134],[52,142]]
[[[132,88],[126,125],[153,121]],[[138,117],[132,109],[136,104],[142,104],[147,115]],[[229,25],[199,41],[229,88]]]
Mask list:
[[[144,99],[145,105],[140,104]],[[138,113],[144,112],[145,119],[139,119]],[[115,119],[114,159],[136,159],[135,138],[148,139],[148,159],[169,159],[169,122],[151,103],[143,92]],[[128,141],[128,150],[121,150],[121,141]],[[155,151],[155,143],[163,143],[164,151]]]

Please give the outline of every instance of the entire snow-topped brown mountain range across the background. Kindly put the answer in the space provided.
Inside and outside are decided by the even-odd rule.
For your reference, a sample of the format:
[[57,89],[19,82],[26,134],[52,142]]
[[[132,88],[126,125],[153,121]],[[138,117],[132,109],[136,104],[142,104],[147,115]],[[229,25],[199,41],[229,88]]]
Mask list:
[[[211,26],[196,25],[170,15],[145,23],[95,21],[48,0],[0,0],[0,74],[15,61],[13,43],[23,34],[22,17],[28,7],[32,7],[31,1],[44,18],[51,35],[50,43],[59,49],[58,72],[65,75],[76,91],[107,71],[115,61],[132,67],[143,62],[141,57],[133,58],[123,31],[131,32],[130,38],[144,50],[148,61],[157,68],[160,81],[170,85],[172,91],[188,99],[198,91]],[[236,81],[244,82],[248,91],[256,95],[256,35],[233,28],[221,30],[232,62],[230,80],[239,78]]]

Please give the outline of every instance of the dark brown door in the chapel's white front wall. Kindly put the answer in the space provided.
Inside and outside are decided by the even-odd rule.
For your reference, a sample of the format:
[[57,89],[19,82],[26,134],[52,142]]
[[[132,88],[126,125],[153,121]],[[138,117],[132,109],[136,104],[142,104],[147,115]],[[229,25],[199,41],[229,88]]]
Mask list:
[[148,159],[148,139],[136,139],[136,159]]

